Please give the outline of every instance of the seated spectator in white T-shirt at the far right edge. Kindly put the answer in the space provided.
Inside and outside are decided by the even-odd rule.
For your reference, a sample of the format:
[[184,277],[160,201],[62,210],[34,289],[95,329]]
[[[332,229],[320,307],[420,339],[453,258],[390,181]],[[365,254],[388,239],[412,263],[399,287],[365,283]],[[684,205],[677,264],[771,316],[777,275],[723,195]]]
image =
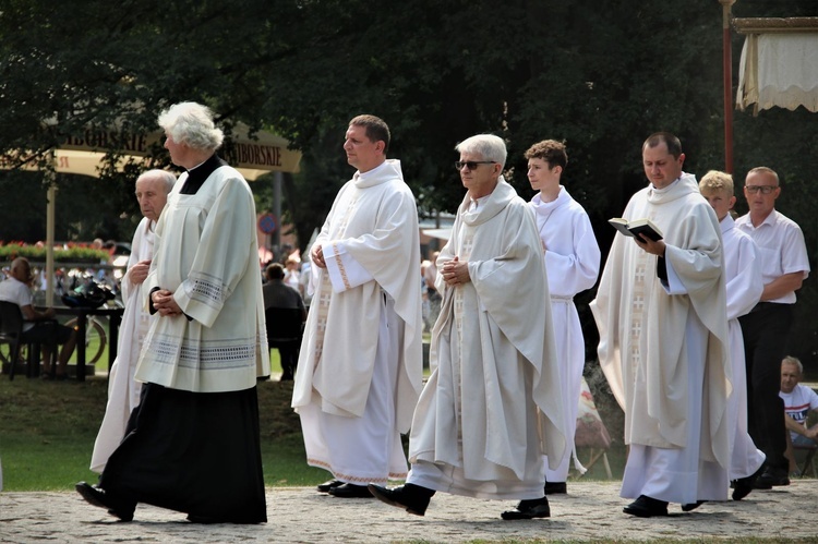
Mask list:
[[807,425],[809,412],[818,411],[818,394],[801,385],[804,366],[794,356],[781,361],[781,391],[784,400],[784,420],[794,446],[815,446],[818,444],[818,424]]

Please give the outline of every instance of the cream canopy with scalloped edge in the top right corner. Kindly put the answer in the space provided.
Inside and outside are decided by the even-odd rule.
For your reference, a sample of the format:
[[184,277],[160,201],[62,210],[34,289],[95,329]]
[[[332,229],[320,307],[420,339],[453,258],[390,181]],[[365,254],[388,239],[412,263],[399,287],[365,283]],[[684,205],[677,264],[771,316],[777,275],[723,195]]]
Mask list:
[[818,112],[818,17],[736,20],[746,34],[736,107]]

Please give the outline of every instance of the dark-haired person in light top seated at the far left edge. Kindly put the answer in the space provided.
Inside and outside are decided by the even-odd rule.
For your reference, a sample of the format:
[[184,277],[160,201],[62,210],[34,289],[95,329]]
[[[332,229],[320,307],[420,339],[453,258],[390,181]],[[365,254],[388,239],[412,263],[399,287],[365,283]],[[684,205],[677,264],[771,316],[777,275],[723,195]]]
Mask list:
[[74,351],[76,335],[73,328],[56,323],[44,323],[53,319],[55,312],[49,307],[45,312],[34,310],[32,305],[31,285],[34,280],[32,267],[25,257],[17,257],[11,264],[8,279],[0,282],[0,301],[14,302],[23,314],[22,342],[37,342],[43,349],[43,377],[51,377],[51,343],[62,344],[57,365],[57,379],[65,379],[65,366]]

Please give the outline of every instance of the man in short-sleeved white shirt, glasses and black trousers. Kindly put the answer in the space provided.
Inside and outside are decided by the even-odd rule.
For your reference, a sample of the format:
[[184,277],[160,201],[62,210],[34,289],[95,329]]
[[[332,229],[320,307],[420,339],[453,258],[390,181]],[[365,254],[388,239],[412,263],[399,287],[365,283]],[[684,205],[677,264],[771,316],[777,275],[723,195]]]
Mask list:
[[759,489],[790,484],[780,366],[792,328],[795,291],[809,274],[801,228],[774,207],[780,194],[773,170],[751,169],[744,182],[749,213],[736,219],[736,228],[749,234],[759,250],[765,286],[761,301],[738,319],[747,365],[749,434],[767,456],[765,471],[755,484]]

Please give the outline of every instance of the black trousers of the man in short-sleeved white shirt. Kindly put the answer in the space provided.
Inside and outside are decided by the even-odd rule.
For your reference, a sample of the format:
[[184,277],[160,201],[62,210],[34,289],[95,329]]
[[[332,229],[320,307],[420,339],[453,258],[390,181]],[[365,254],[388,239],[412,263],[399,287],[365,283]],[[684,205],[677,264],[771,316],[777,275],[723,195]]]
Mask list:
[[792,304],[760,302],[738,318],[747,366],[747,423],[753,442],[767,456],[767,466],[787,470],[786,427],[781,390],[781,360],[793,323]]

